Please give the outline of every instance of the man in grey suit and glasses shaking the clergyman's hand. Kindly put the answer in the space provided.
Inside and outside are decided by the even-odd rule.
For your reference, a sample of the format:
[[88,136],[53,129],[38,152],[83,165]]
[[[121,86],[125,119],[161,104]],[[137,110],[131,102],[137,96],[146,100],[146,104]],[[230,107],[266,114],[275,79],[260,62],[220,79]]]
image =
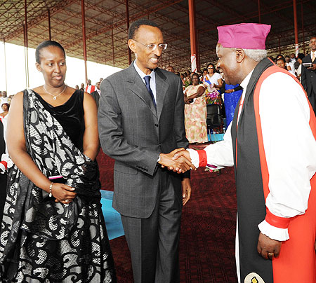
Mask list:
[[121,214],[134,281],[177,283],[181,209],[191,194],[185,171],[194,168],[190,160],[173,160],[176,149],[188,146],[182,83],[157,68],[166,43],[154,22],[131,24],[129,48],[136,60],[103,80],[98,110],[101,146],[115,159],[113,207]]

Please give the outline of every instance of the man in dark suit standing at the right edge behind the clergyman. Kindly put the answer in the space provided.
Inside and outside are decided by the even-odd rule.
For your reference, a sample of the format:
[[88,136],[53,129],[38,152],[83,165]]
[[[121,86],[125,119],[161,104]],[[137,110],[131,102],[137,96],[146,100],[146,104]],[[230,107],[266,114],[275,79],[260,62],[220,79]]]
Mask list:
[[[308,100],[316,113],[316,36],[310,38],[310,55],[302,60],[301,83],[308,94]],[[305,67],[304,64],[312,63],[312,67]]]

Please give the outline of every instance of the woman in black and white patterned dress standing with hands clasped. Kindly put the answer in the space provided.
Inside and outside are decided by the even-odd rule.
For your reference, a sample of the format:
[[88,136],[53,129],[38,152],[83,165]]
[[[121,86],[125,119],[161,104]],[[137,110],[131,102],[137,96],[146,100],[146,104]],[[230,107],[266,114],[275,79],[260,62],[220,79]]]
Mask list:
[[100,205],[93,97],[65,85],[65,50],[44,41],[45,84],[19,92],[8,117],[15,164],[0,235],[0,282],[116,282]]

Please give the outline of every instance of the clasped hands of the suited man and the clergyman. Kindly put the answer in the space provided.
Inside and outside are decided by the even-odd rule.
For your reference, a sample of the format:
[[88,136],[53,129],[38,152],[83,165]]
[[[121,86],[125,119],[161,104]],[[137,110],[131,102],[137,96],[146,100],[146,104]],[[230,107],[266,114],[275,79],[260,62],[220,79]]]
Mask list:
[[190,153],[185,149],[175,149],[170,153],[160,153],[158,163],[162,168],[167,167],[178,174],[187,172],[188,170],[196,170],[191,162]]

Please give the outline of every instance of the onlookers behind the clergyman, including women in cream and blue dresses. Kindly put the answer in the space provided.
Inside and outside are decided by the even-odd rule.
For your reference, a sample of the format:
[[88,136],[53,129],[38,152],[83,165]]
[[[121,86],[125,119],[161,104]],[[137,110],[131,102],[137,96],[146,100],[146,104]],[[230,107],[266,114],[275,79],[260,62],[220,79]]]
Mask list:
[[[301,81],[303,57],[305,57],[303,53],[298,53],[297,57],[294,53],[291,53],[290,55],[279,54],[275,57],[270,56],[269,58],[278,67],[286,69]],[[238,84],[226,84],[223,73],[216,69],[213,63],[207,64],[205,68],[198,70],[196,73],[189,69],[183,72],[175,71],[175,69],[172,66],[166,68],[167,71],[172,71],[174,74],[180,76],[183,83],[185,126],[188,132],[187,139],[189,139],[190,143],[200,144],[206,142],[206,124],[204,125],[202,120],[204,120],[204,116],[206,117],[206,105],[208,104],[219,104],[222,116],[225,118],[224,127],[213,129],[213,132],[225,132],[225,127],[227,128],[232,122],[235,107],[237,106],[239,97],[242,95],[242,87]],[[195,91],[192,92],[192,90]],[[204,106],[202,106],[202,103]],[[193,116],[196,117],[194,126],[192,126]],[[199,125],[197,126],[197,124]]]

